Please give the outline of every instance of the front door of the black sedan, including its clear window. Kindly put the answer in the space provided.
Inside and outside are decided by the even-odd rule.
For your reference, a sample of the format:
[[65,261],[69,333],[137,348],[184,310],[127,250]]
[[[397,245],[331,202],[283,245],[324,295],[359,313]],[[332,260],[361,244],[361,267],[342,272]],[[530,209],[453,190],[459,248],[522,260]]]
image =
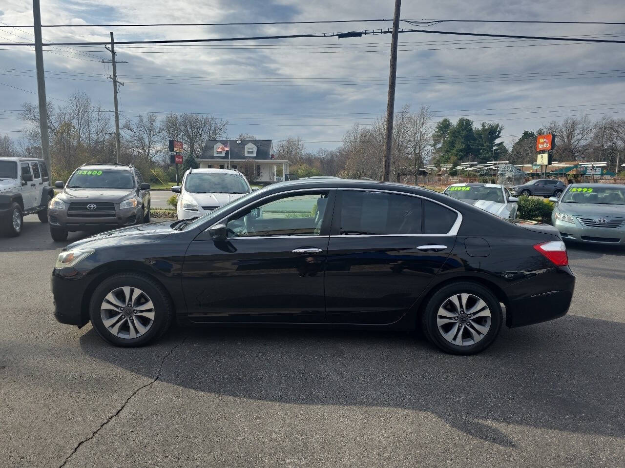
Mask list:
[[324,322],[334,189],[261,199],[223,223],[225,241],[199,235],[183,266],[192,321]]

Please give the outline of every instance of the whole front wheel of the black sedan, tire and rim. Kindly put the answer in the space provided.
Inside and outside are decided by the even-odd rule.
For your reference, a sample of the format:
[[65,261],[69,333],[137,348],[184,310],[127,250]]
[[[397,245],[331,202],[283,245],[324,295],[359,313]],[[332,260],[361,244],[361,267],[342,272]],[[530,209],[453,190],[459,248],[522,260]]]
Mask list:
[[143,274],[124,273],[105,279],[91,296],[91,323],[116,346],[143,346],[169,328],[173,307],[167,292]]

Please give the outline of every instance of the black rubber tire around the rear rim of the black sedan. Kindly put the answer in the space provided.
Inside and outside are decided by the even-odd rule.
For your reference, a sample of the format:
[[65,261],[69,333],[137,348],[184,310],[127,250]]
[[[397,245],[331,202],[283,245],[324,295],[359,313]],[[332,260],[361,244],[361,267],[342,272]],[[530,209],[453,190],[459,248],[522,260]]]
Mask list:
[[[466,311],[471,310],[473,304],[476,304],[474,301],[474,297],[477,299],[481,299],[490,311],[490,318],[487,317],[477,317],[473,319],[473,321],[468,321],[467,317],[469,314],[466,314],[463,309],[461,309],[461,314],[464,315],[462,317],[461,314],[458,314],[458,317],[462,317],[460,321],[449,322],[448,324],[442,324],[442,330],[439,328],[437,321],[439,319],[439,309],[443,308],[447,302],[452,297],[457,297],[459,294],[470,294],[472,297],[467,301]],[[473,312],[474,314],[477,311]],[[441,315],[442,321],[444,321],[444,317]],[[456,319],[454,319],[456,320]],[[477,284],[474,282],[463,281],[452,284],[447,284],[447,286],[441,287],[438,291],[434,292],[432,297],[427,301],[426,306],[423,309],[423,313],[421,315],[421,327],[426,334],[426,337],[432,343],[436,344],[442,351],[448,352],[450,354],[476,354],[478,352],[484,351],[488,346],[492,344],[492,342],[499,334],[499,329],[501,328],[502,323],[502,312],[501,306],[499,306],[499,300],[497,297],[492,294],[489,289],[482,286],[481,284]],[[464,328],[462,327],[461,322],[464,323]],[[454,325],[455,324],[455,325]],[[476,325],[474,325],[476,324]],[[456,327],[456,331],[454,332],[454,326]],[[487,331],[485,334],[481,334],[477,327],[487,327]],[[451,337],[458,337],[459,331],[459,341],[463,341],[462,337],[464,336],[466,339],[465,344],[454,344],[449,339],[446,339],[443,336],[443,332],[447,331],[449,327],[448,333],[454,333]],[[459,328],[458,328],[459,327]],[[469,330],[467,331],[467,328]],[[474,340],[474,336],[479,337],[479,341],[471,343]],[[456,341],[456,340],[454,340]]]

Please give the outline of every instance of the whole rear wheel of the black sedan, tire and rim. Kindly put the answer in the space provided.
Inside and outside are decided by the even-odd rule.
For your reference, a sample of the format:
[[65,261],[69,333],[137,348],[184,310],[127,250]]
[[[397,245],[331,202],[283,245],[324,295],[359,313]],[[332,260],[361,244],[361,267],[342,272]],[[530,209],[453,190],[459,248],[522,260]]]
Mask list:
[[499,334],[501,322],[497,297],[473,282],[441,287],[427,301],[421,316],[429,340],[452,354],[483,351]]

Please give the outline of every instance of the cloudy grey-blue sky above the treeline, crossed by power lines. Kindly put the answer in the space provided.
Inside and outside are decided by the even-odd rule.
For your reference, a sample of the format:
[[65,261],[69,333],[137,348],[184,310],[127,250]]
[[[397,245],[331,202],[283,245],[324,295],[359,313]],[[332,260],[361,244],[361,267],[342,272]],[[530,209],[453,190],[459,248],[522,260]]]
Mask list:
[[[391,18],[392,0],[41,0],[43,24],[315,21]],[[622,1],[404,1],[402,18],[625,21]],[[0,4],[0,41],[32,41],[29,0]],[[403,27],[411,27],[402,24]],[[207,27],[44,28],[44,41],[193,39],[354,31],[390,22]],[[625,38],[625,26],[447,22],[441,31]],[[299,136],[307,147],[336,147],[346,129],[386,109],[390,35],[338,40],[277,39],[201,46],[118,46],[120,111],[206,112],[278,141]],[[113,109],[103,46],[45,47],[48,99],[63,105],[74,90]],[[501,122],[504,140],[566,116],[625,116],[625,44],[400,35],[396,108],[431,106],[439,118]],[[36,102],[32,47],[0,47],[0,135],[18,139],[22,102]],[[621,103],[621,100],[624,103]]]

